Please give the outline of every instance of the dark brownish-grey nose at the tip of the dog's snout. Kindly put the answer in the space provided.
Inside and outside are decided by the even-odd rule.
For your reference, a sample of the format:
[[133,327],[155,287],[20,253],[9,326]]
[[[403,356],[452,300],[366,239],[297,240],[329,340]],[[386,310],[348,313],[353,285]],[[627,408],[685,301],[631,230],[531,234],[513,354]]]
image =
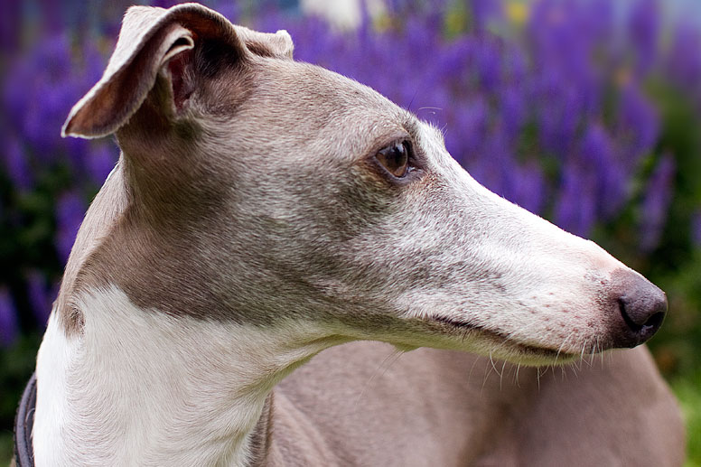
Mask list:
[[623,270],[612,275],[612,291],[622,316],[617,344],[635,347],[650,339],[667,313],[665,293],[643,276]]

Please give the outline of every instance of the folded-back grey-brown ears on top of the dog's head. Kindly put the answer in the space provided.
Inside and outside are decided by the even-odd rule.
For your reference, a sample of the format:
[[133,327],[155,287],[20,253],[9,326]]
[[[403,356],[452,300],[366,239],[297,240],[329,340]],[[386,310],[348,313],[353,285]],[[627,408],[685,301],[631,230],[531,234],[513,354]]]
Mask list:
[[[252,55],[292,58],[285,31],[257,33],[234,26],[224,16],[197,4],[169,10],[132,6],[126,12],[117,47],[102,79],[71,109],[61,135],[96,138],[115,133],[142,106],[156,81],[169,86],[160,99],[166,117],[177,116],[195,88],[198,73],[216,72],[216,56],[233,65]],[[199,62],[197,62],[199,60]],[[197,62],[197,63],[196,63]]]

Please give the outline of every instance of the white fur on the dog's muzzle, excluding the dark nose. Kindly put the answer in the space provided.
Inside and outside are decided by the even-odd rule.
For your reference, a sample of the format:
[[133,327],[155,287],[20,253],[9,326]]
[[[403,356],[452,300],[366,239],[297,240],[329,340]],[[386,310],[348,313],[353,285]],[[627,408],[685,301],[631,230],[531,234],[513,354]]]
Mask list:
[[[407,317],[450,317],[508,336],[508,341],[495,343],[489,335],[485,340],[481,332],[472,332],[460,345],[462,350],[502,359],[514,360],[511,344],[571,355],[595,350],[611,319],[606,315],[608,310],[596,303],[595,285],[614,270],[628,268],[594,242],[565,232],[481,186],[445,151],[435,128],[420,128],[425,153],[436,164],[434,170],[440,171],[446,185],[456,192],[456,200],[463,203],[455,209],[464,206],[471,221],[481,223],[488,235],[475,236],[465,223],[463,238],[456,242],[461,248],[451,249],[442,235],[444,226],[419,219],[410,226],[412,235],[397,249],[411,248],[416,238],[422,238],[424,245],[434,242],[433,248],[427,249],[444,252],[437,263],[460,266],[462,260],[474,265],[473,271],[491,265],[484,270],[499,272],[495,282],[502,289],[485,288],[483,281],[468,277],[461,281],[461,274],[473,271],[456,267],[451,273],[452,284],[409,289],[397,297],[396,308],[407,310]],[[590,277],[592,271],[600,277]],[[465,302],[465,297],[470,300]]]

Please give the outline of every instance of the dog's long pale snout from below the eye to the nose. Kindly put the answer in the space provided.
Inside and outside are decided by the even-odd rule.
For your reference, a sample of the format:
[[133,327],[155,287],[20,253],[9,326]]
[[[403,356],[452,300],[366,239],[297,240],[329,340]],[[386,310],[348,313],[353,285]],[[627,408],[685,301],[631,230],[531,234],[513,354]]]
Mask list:
[[397,297],[404,316],[470,329],[487,343],[464,347],[533,364],[635,347],[659,330],[667,298],[658,287],[593,241],[487,190],[425,136],[440,183],[412,204],[411,221],[401,219],[411,245],[393,270],[430,274]]

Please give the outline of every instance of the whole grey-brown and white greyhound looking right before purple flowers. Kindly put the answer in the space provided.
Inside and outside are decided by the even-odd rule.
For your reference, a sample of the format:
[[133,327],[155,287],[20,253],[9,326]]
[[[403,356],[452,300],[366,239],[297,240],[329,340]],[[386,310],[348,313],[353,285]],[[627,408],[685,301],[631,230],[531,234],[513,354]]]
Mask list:
[[38,353],[31,461],[683,462],[648,350],[593,357],[648,340],[665,294],[292,51],[201,5],[127,11],[63,128],[122,154]]

